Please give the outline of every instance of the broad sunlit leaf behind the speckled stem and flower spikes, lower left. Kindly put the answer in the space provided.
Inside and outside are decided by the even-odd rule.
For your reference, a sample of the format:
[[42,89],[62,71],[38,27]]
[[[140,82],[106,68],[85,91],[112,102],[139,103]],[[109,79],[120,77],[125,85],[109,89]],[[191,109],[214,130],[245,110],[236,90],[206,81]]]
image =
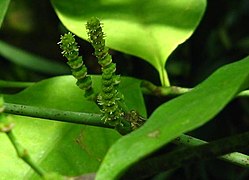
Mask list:
[[[100,89],[100,76],[93,76],[93,86]],[[5,102],[67,111],[99,113],[93,102],[84,99],[84,92],[71,76],[41,81],[16,95],[5,95]],[[127,89],[131,89],[128,91]],[[122,78],[120,90],[127,105],[146,115],[140,80]],[[96,172],[104,155],[120,135],[112,130],[13,116],[14,133],[35,162],[46,171],[67,176]],[[4,134],[0,134],[0,174],[3,179],[37,179],[37,175],[21,159]]]

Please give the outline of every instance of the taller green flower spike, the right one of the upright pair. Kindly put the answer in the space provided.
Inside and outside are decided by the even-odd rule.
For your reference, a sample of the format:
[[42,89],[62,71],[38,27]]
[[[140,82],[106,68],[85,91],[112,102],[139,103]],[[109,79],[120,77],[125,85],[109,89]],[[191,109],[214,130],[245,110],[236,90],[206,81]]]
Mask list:
[[98,18],[91,18],[87,24],[89,41],[95,49],[94,55],[102,69],[102,91],[98,96],[98,104],[102,107],[103,119],[111,125],[120,124],[119,118],[124,115],[120,107],[123,95],[117,90],[120,77],[115,75],[116,64],[112,62],[109,48],[105,46],[102,25]]

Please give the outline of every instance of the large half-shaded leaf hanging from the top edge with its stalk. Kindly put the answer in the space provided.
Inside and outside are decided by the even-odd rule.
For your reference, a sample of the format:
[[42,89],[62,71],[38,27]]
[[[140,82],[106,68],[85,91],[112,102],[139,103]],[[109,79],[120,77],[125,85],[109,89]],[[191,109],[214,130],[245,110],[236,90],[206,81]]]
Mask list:
[[65,27],[86,40],[86,21],[92,16],[100,18],[107,46],[152,64],[163,85],[169,85],[165,71],[168,56],[190,37],[206,6],[206,0],[51,2]]

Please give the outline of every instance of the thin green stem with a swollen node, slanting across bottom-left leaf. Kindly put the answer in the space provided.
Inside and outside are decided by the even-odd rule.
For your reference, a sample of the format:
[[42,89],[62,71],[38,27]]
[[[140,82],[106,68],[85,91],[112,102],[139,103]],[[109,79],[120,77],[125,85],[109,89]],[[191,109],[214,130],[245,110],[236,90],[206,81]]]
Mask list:
[[37,166],[37,164],[35,164],[35,162],[29,156],[28,151],[24,149],[16,140],[16,137],[14,136],[12,130],[6,132],[6,135],[14,146],[18,157],[25,161],[37,174],[39,174],[41,177],[44,177],[45,172],[39,166]]

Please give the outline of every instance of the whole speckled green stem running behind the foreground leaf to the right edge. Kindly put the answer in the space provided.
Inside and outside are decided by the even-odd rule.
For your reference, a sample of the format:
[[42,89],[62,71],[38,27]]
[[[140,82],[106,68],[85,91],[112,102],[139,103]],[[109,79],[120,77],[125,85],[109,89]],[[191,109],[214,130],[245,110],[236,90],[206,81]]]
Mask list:
[[[49,109],[49,108],[26,106],[20,104],[10,104],[10,103],[4,103],[4,105],[5,105],[5,112],[10,114],[45,118],[48,120],[70,122],[76,124],[113,128],[112,126],[104,124],[104,122],[101,120],[102,118],[101,114],[63,111],[57,109]],[[173,143],[177,145],[196,146],[196,145],[205,144],[207,142],[183,134],[180,137],[176,138],[173,141]],[[244,166],[244,167],[249,166],[248,162],[249,157],[242,153],[235,152],[227,154],[219,157],[219,159],[239,166]]]

